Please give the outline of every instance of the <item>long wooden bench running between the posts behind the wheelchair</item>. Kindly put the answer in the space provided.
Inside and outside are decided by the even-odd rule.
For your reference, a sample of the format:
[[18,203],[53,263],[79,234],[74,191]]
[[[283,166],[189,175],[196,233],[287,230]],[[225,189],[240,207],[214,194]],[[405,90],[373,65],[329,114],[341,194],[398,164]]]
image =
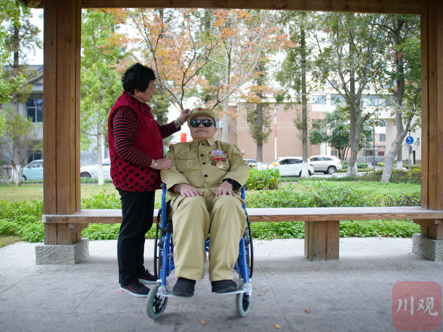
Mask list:
[[[338,260],[340,220],[412,219],[421,225],[421,233],[439,239],[443,211],[420,207],[340,207],[340,208],[247,208],[251,222],[304,221],[305,256],[311,261]],[[158,210],[154,210],[154,222]],[[82,229],[91,223],[121,223],[121,210],[82,210],[72,215],[43,215],[45,227],[68,224],[71,243],[82,237]],[[427,230],[425,229],[427,228]],[[439,234],[437,234],[437,232]],[[435,236],[432,236],[435,233]]]

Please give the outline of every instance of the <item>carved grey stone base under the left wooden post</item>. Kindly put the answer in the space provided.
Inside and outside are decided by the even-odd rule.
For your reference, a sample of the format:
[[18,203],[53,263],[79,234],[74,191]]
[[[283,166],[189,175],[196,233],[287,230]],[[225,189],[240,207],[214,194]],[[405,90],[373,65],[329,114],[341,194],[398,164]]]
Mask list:
[[74,244],[39,244],[35,246],[35,264],[77,264],[89,255],[89,239]]

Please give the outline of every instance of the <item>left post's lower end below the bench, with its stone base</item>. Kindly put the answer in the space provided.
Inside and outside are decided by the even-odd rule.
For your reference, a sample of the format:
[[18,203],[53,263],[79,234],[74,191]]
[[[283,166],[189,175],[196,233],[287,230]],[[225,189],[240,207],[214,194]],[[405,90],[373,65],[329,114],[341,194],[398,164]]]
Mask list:
[[76,264],[89,255],[89,239],[82,230],[89,224],[45,223],[45,244],[35,246],[35,264]]

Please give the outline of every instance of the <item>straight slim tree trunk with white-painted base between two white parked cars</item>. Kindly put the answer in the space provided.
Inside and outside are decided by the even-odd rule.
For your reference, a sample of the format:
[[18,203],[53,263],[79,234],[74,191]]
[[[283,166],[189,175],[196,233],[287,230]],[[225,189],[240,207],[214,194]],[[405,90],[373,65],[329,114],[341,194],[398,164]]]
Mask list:
[[309,169],[307,165],[307,97],[306,97],[306,40],[305,30],[300,27],[301,43],[301,70],[302,70],[302,174],[300,178],[308,179]]

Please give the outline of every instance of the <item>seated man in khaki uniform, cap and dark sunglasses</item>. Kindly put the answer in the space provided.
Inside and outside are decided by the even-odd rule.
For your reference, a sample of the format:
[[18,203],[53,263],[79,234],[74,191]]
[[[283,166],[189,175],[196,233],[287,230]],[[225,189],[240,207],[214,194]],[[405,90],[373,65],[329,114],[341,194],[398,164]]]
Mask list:
[[212,292],[238,290],[233,267],[247,227],[238,191],[249,175],[248,162],[234,144],[214,139],[215,114],[194,108],[187,120],[192,142],[170,146],[172,160],[161,178],[171,195],[174,264],[178,278],[172,294],[191,297],[205,273],[205,242],[210,233],[209,279]]

